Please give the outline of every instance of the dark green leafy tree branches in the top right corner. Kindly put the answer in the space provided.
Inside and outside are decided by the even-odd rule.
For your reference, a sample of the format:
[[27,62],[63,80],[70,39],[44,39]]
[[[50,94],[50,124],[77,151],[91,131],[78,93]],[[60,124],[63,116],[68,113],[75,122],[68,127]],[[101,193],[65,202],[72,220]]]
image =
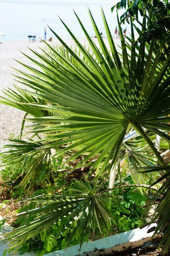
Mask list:
[[125,13],[120,17],[121,22],[130,23],[130,17],[133,20],[138,20],[138,15],[144,16],[144,12],[147,11],[147,28],[143,31],[145,40],[150,42],[153,38],[163,40],[164,35],[167,33],[167,45],[166,54],[170,52],[170,3],[168,0],[121,0],[115,6],[111,8],[113,12],[114,8],[126,9]]

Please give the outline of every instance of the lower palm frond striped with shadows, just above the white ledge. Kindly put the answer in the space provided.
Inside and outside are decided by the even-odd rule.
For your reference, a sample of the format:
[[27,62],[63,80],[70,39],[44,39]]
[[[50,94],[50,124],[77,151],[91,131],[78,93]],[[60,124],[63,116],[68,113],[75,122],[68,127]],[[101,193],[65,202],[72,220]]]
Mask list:
[[67,223],[59,231],[56,239],[69,226],[74,227],[66,248],[73,240],[77,229],[81,230],[82,233],[80,248],[85,235],[89,237],[91,230],[95,231],[96,226],[102,234],[104,228],[109,232],[111,229],[111,215],[105,207],[107,195],[100,194],[90,183],[87,186],[78,181],[77,183],[79,189],[74,190],[74,195],[41,195],[27,200],[43,203],[43,206],[18,214],[19,217],[37,214],[37,218],[3,236],[3,239],[8,240],[9,247],[15,248],[14,253],[24,241],[36,236],[52,224],[57,225],[62,219],[66,219]]

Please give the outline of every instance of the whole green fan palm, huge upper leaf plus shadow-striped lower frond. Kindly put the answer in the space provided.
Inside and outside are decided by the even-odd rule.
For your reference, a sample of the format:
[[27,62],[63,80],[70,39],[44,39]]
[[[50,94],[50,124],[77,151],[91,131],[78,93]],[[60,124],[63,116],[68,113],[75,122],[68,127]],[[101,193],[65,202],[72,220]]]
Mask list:
[[[142,36],[140,45],[136,45],[131,20],[131,38],[125,41],[118,18],[122,45],[118,52],[105,14],[101,9],[110,47],[108,49],[89,9],[88,12],[99,47],[88,35],[76,13],[89,43],[88,49],[61,20],[73,38],[76,48],[65,44],[51,29],[62,47],[60,49],[52,47],[44,41],[47,49],[42,49],[42,53],[31,49],[39,61],[26,57],[36,64],[38,69],[20,63],[31,71],[31,74],[19,71],[21,76],[15,76],[17,81],[27,89],[19,89],[20,96],[18,94],[11,96],[10,100],[1,99],[1,103],[20,108],[33,116],[26,118],[35,123],[32,132],[38,136],[43,134],[42,139],[34,141],[38,143],[37,151],[39,145],[40,150],[53,148],[55,157],[63,154],[68,156],[66,163],[83,156],[71,171],[90,166],[86,178],[92,172],[95,173],[94,186],[92,187],[89,183],[87,186],[82,185],[83,188],[75,191],[75,195],[70,198],[58,195],[33,198],[32,200],[46,203],[42,208],[31,211],[31,213],[39,213],[38,217],[34,222],[27,223],[5,236],[11,239],[11,247],[17,247],[17,249],[26,239],[35,236],[48,225],[62,218],[68,219],[68,225],[75,222],[75,230],[81,228],[84,235],[88,233],[89,236],[90,230],[94,230],[96,225],[102,233],[100,220],[109,230],[110,218],[105,207],[105,198],[112,195],[108,194],[108,190],[102,191],[103,184],[98,185],[97,180],[103,173],[113,170],[116,163],[120,161],[122,146],[130,147],[127,143],[125,144],[125,137],[133,129],[142,137],[147,150],[151,150],[157,158],[159,162],[157,165],[161,166],[158,167],[159,171],[166,171],[163,178],[161,177],[161,179],[167,179],[164,183],[166,185],[163,185],[156,195],[160,193],[164,195],[161,206],[167,209],[169,167],[164,163],[148,133],[150,131],[167,142],[170,141],[168,135],[170,131],[170,117],[168,117],[170,114],[170,55],[164,60],[161,59],[167,37],[165,36],[161,45],[158,45],[155,38],[147,44]],[[144,13],[142,31],[145,26]],[[142,33],[139,29],[137,31]],[[34,102],[30,100],[28,102],[24,97],[22,98],[23,93],[28,97],[34,97]],[[9,93],[8,96],[10,96]],[[145,155],[143,152],[140,158],[138,152],[135,154],[135,150],[131,148],[133,154],[129,159],[130,165],[136,168],[134,164],[136,156],[139,166],[140,161],[143,164],[148,163],[147,152],[145,151]],[[148,167],[150,169],[147,171],[156,171],[152,166]],[[158,214],[160,214],[159,208]],[[23,215],[29,213],[26,212]],[[158,228],[164,230],[169,220],[166,218],[166,221],[161,221]],[[164,239],[169,234],[170,225],[167,227]],[[73,236],[74,232],[69,242]],[[167,244],[169,243],[170,239]]]

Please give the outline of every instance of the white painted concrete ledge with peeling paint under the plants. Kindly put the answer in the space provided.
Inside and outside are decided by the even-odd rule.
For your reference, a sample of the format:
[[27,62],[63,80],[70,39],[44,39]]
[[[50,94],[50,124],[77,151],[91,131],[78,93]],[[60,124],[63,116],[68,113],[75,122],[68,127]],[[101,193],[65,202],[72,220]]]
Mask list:
[[[114,236],[99,239],[97,241],[83,243],[79,252],[79,244],[68,247],[67,250],[59,250],[54,253],[48,253],[45,256],[104,256],[113,254],[116,251],[123,251],[127,248],[136,248],[142,246],[144,242],[150,241],[153,232],[147,233],[151,227],[156,227],[153,223],[149,227],[142,229],[136,228],[127,232],[119,233]],[[155,237],[161,237],[161,234]]]

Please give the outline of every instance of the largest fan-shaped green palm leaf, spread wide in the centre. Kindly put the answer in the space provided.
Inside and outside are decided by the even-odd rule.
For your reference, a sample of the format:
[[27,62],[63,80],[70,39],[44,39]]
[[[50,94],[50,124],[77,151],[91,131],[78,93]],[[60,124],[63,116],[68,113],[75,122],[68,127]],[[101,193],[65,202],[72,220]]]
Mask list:
[[[88,32],[86,32],[78,17],[77,19],[85,32],[90,47],[94,52],[95,58],[99,61],[99,64],[96,63],[94,58],[92,58],[89,52],[77,38],[74,37],[72,32],[62,21],[71,37],[74,39],[77,48],[79,48],[82,55],[88,61],[88,64],[83,61],[80,55],[77,55],[73,49],[68,47],[54,32],[54,35],[57,36],[65,49],[72,55],[72,58],[79,62],[82,68],[77,68],[72,61],[65,58],[60,52],[46,43],[47,47],[49,47],[57,56],[55,63],[52,57],[51,59],[53,59],[53,62],[34,51],[34,53],[43,61],[43,64],[30,57],[28,58],[33,61],[34,64],[37,64],[37,66],[42,69],[42,72],[22,64],[36,76],[22,73],[28,77],[28,79],[22,77],[19,79],[21,84],[36,90],[36,92],[30,92],[30,94],[45,99],[54,105],[43,106],[34,104],[30,105],[31,107],[61,113],[61,116],[45,116],[30,120],[32,122],[49,124],[48,132],[53,131],[52,127],[50,129],[50,123],[56,124],[55,131],[59,131],[60,129],[62,129],[62,133],[63,131],[67,131],[65,133],[66,136],[68,136],[69,131],[71,137],[69,142],[72,143],[65,149],[59,151],[58,155],[81,146],[82,149],[68,159],[68,161],[71,161],[84,152],[89,152],[88,156],[85,157],[77,167],[85,164],[86,161],[94,155],[99,154],[97,161],[91,168],[92,172],[104,159],[105,166],[110,160],[112,160],[112,165],[114,164],[129,124],[141,133],[154,151],[155,148],[153,143],[143,131],[142,127],[146,127],[159,134],[161,137],[164,137],[164,139],[169,140],[169,136],[161,133],[158,129],[161,128],[166,131],[170,130],[169,125],[165,125],[169,119],[161,118],[161,116],[170,112],[170,110],[167,109],[169,101],[167,96],[169,79],[166,79],[163,84],[161,84],[163,73],[168,69],[170,56],[167,57],[164,66],[155,76],[161,49],[166,40],[158,49],[154,63],[150,62],[154,41],[151,43],[150,52],[147,56],[147,65],[145,66],[144,39],[140,44],[137,60],[135,56],[135,47],[133,47],[134,40],[132,40],[130,62],[127,55],[125,40],[121,33],[122,54],[124,56],[122,62],[116,51],[113,39],[111,38],[111,32],[108,28],[104,13],[102,12],[102,17],[108,35],[111,55],[99,34],[90,11],[89,15],[102,53],[96,47],[96,44],[88,35]],[[145,18],[143,21],[143,27],[144,26]],[[62,63],[60,61],[61,59]],[[131,64],[129,65],[129,63]],[[65,125],[59,125],[60,123],[64,123]],[[53,142],[50,147],[67,143],[68,140],[64,139],[66,136],[64,136],[63,133],[62,140],[58,139],[56,136],[56,141]],[[162,159],[159,156],[159,153],[155,151],[155,154],[162,164]]]

